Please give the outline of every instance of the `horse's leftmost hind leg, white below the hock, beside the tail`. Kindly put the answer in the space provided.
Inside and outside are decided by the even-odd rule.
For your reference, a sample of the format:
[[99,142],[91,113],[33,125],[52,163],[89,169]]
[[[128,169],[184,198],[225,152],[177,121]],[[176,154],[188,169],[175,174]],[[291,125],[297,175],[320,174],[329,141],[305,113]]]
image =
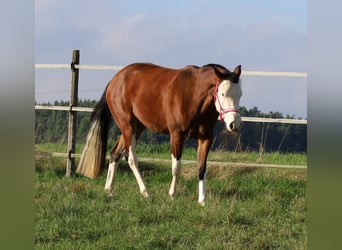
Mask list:
[[106,184],[105,184],[105,190],[109,193],[109,195],[113,195],[114,176],[119,166],[119,162],[124,154],[124,148],[125,148],[125,142],[123,140],[123,137],[120,136],[110,154],[108,174],[107,174],[107,179],[106,179]]

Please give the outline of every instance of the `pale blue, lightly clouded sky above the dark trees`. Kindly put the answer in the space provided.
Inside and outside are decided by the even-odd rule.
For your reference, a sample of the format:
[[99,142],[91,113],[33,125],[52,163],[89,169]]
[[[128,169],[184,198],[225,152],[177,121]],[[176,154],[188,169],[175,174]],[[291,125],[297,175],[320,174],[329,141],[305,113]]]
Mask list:
[[[304,0],[36,0],[36,63],[181,68],[222,64],[242,71],[307,71]],[[101,97],[115,71],[80,70],[79,98]],[[35,71],[38,103],[69,100],[70,71]],[[242,76],[240,105],[307,117],[307,79]]]

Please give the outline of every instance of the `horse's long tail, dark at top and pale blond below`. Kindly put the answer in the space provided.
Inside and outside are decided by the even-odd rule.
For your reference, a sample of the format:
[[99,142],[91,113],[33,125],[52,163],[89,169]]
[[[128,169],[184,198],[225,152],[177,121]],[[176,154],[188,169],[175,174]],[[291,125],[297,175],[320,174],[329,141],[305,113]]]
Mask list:
[[106,160],[108,130],[112,119],[106,101],[106,90],[91,114],[90,130],[76,170],[76,173],[92,179],[102,174]]

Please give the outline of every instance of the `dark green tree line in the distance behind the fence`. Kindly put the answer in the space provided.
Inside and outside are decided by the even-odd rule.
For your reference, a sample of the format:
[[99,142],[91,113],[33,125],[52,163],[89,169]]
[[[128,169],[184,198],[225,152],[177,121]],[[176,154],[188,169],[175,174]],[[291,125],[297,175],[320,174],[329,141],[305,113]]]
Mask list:
[[[95,100],[79,100],[80,107],[94,107]],[[51,105],[42,103],[41,105]],[[68,101],[55,101],[53,105],[69,106]],[[248,117],[287,118],[294,116],[279,112],[263,113],[257,107],[247,109],[241,107],[241,115]],[[89,112],[77,112],[76,142],[84,143],[90,121]],[[259,151],[259,152],[302,152],[307,151],[307,126],[302,124],[256,123],[244,122],[240,131],[235,134],[227,132],[224,123],[218,121],[214,128],[215,139],[212,148],[230,151]],[[116,124],[109,131],[108,147],[112,147],[120,135]],[[68,112],[57,110],[35,110],[35,142],[66,144],[68,137]],[[145,130],[140,136],[140,142],[146,144],[162,144],[169,142],[169,136]],[[195,147],[194,140],[187,140],[186,146]]]

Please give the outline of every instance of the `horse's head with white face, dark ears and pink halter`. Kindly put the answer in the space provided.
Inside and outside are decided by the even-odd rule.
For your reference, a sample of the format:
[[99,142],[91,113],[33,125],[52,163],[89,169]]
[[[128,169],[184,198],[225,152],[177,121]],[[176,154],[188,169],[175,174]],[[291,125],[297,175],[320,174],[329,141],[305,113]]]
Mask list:
[[215,90],[215,107],[224,120],[227,130],[237,131],[240,128],[241,117],[239,102],[242,96],[240,86],[241,65],[236,66],[234,72],[225,75],[224,80],[218,80]]

